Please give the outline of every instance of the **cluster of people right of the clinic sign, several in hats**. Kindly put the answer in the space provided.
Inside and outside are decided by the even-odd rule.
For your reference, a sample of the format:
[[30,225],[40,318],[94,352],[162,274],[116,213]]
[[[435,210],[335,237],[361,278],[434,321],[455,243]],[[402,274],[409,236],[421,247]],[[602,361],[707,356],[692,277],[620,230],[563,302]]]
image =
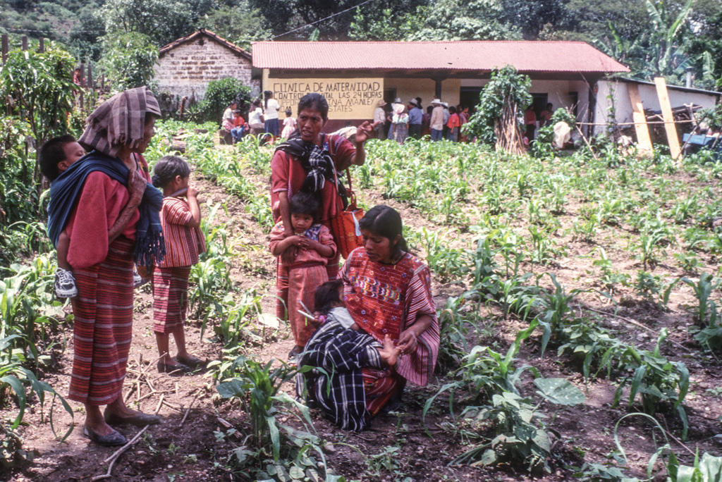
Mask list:
[[382,99],[376,102],[373,122],[376,139],[394,140],[399,144],[404,144],[409,137],[421,139],[422,136],[431,136],[432,141],[466,141],[461,126],[469,122],[469,108],[434,99],[424,110],[421,97],[405,104],[396,97],[391,105]]

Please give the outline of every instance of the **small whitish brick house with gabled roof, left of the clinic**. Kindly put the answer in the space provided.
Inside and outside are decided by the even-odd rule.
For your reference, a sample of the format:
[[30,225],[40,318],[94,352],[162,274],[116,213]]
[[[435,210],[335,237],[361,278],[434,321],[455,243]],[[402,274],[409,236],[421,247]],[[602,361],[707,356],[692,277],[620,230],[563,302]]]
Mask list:
[[176,105],[181,97],[198,102],[210,81],[226,77],[239,79],[251,87],[252,95],[258,94],[260,83],[251,79],[251,53],[210,30],[201,28],[160,48],[154,80],[162,104]]

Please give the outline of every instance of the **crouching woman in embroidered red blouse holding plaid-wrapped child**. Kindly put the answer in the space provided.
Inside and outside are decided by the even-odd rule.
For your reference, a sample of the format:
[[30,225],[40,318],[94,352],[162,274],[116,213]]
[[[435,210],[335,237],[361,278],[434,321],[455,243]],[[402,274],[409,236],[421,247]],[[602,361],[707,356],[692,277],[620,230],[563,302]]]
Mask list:
[[346,308],[330,310],[308,341],[298,364],[316,369],[297,379],[300,397],[354,431],[398,401],[406,381],[426,385],[439,347],[430,271],[407,252],[401,216],[375,206],[359,224],[364,246],[341,273]]

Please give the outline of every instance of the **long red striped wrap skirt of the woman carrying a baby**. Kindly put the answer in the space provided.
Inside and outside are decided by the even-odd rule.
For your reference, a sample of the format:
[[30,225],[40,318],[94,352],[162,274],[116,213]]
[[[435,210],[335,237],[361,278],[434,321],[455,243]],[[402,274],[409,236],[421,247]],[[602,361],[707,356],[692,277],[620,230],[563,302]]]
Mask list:
[[133,242],[118,237],[108,256],[73,271],[73,371],[68,398],[107,405],[121,395],[133,335]]

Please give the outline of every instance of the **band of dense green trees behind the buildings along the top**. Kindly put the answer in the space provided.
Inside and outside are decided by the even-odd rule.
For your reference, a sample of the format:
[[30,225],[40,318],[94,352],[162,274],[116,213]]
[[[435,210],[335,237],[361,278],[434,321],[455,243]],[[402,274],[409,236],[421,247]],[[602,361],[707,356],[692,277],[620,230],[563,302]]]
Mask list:
[[[156,47],[201,27],[253,40],[583,40],[632,75],[714,88],[722,79],[719,0],[2,0],[0,32],[44,36],[79,59],[105,55],[103,35],[139,32]],[[14,40],[17,43],[17,39]]]

